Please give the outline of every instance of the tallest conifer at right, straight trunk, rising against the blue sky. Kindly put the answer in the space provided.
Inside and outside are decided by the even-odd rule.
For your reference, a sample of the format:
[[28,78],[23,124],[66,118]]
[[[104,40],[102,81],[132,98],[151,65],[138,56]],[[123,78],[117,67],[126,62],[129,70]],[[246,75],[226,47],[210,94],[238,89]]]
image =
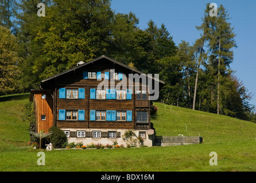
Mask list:
[[212,17],[209,46],[212,54],[210,64],[215,66],[217,75],[217,114],[221,112],[220,85],[223,77],[229,75],[228,68],[233,60],[232,48],[236,47],[234,27],[227,22],[227,11],[222,5],[218,8],[218,17]]

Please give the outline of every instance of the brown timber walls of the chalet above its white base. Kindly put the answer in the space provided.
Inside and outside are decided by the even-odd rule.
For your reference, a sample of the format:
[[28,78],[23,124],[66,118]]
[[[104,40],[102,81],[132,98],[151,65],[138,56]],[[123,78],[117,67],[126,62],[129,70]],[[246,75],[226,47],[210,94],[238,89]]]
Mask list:
[[[114,78],[117,75],[112,76],[111,69],[114,69],[115,73],[121,73],[122,79]],[[84,78],[85,72],[87,73],[87,78]],[[91,72],[97,73],[96,77],[98,77],[98,74],[100,73],[101,79],[89,78],[88,73],[91,74]],[[104,78],[106,77],[106,72],[110,73],[110,75],[108,75],[108,79]],[[141,87],[141,83],[135,83],[134,81],[131,82],[133,83],[133,89],[131,90],[132,92],[129,100],[127,99],[127,93],[129,93],[127,89],[129,89],[129,87],[127,86],[127,88],[125,88],[126,85],[123,85],[120,88],[125,91],[125,99],[117,98],[117,93],[115,93],[114,99],[107,99],[106,93],[103,93],[104,95],[102,94],[104,99],[96,97],[91,98],[91,93],[94,91],[93,89],[96,91],[97,87],[104,81],[104,79],[105,81],[108,81],[108,89],[115,89],[121,83],[125,83],[124,75],[127,76],[126,83],[128,84],[128,75],[134,73],[141,74],[141,72],[103,55],[102,57],[98,57],[90,62],[42,80],[41,90],[32,90],[31,93],[33,97],[30,97],[30,100],[34,101],[36,109],[37,132],[40,132],[41,129],[48,132],[48,129],[52,125],[55,125],[58,128],[73,129],[139,130],[152,128],[150,125],[149,94],[146,95],[146,98],[144,96],[144,98],[138,100],[137,94],[135,93],[135,86],[137,85]],[[160,88],[162,85],[164,85],[164,82],[160,81]],[[79,91],[76,92],[76,90]],[[64,93],[63,91],[65,91],[65,97],[62,96]],[[80,91],[82,91],[82,98],[79,98]],[[106,90],[104,91],[106,92]],[[74,98],[67,97],[67,95],[71,96],[71,92],[72,95],[75,96]],[[115,90],[115,92],[117,92],[117,90]],[[45,101],[40,99],[41,93],[46,94]],[[42,106],[42,108],[38,107],[38,105]],[[107,120],[107,111],[113,111],[113,114],[111,113],[111,115],[115,115],[115,117],[113,117],[114,120]],[[99,116],[96,116],[95,119],[92,118],[94,117],[92,115],[95,112],[95,116],[98,115],[99,112],[102,112],[100,115],[105,112],[105,117],[100,116],[103,120],[96,120]],[[40,116],[41,113],[45,113],[49,116],[47,117],[47,122],[40,120],[38,116]],[[124,115],[124,120],[119,121],[118,114]],[[65,115],[64,118],[63,115]],[[138,119],[143,119],[143,121]],[[46,127],[43,127],[43,122],[47,123]]]

